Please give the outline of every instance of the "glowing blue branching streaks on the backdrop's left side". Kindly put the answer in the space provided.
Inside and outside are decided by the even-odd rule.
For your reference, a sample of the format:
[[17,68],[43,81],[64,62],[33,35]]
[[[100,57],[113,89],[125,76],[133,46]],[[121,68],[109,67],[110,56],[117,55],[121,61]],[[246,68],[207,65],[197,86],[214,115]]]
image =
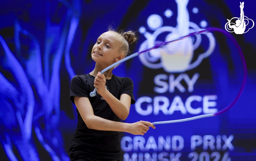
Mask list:
[[[0,103],[5,107],[1,108],[1,124],[6,129],[1,131],[0,140],[11,161],[18,160],[13,152],[14,146],[21,157],[26,158],[25,160],[40,160],[32,131],[54,161],[69,160],[63,148],[62,134],[58,130],[59,73],[61,60],[65,54],[65,64],[70,80],[75,76],[70,64],[69,51],[79,22],[81,6],[78,0],[74,0],[72,4],[67,1],[60,2],[67,7],[66,19],[62,27],[51,24],[49,20],[51,17],[47,15],[43,61],[38,40],[32,33],[23,29],[18,20],[14,24],[14,42],[16,55],[23,60],[22,62],[17,60],[4,38],[0,36],[0,43],[4,50],[1,56],[2,70],[10,72],[13,76],[13,80],[8,80],[3,73],[0,73]],[[49,3],[47,7],[50,8]],[[21,44],[24,43],[20,41],[21,36],[29,39],[29,42],[26,42],[30,46],[28,54],[21,49]],[[44,74],[42,62],[44,62]],[[13,129],[17,130],[13,131]]]

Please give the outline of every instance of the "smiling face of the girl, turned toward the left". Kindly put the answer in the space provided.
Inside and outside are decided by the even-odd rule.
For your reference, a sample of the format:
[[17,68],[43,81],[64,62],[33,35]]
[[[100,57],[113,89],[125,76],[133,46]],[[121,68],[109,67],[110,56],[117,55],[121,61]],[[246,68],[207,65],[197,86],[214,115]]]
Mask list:
[[104,32],[101,34],[92,49],[93,60],[102,65],[111,65],[120,60],[122,53],[119,53],[120,43],[117,35],[113,32]]

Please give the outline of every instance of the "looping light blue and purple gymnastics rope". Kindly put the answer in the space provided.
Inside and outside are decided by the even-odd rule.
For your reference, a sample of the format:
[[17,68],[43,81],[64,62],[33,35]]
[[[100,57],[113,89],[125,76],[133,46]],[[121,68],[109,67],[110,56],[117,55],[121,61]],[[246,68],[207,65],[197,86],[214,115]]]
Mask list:
[[[236,96],[236,98],[226,107],[224,108],[223,110],[219,111],[219,112],[216,112],[216,113],[213,113],[213,114],[204,114],[204,115],[200,115],[200,116],[195,116],[195,117],[189,117],[189,118],[184,118],[184,119],[178,119],[178,120],[169,120],[169,121],[158,121],[158,122],[152,122],[153,125],[157,125],[157,124],[168,124],[168,123],[176,123],[176,122],[184,122],[184,121],[191,121],[191,120],[195,120],[195,119],[199,119],[199,118],[203,118],[203,117],[211,117],[211,116],[217,116],[217,115],[220,115],[220,114],[223,114],[224,112],[226,112],[227,110],[229,110],[236,102],[237,100],[240,98],[244,88],[245,88],[245,82],[246,82],[246,77],[247,77],[247,69],[246,69],[246,63],[245,63],[245,57],[243,55],[243,52],[240,48],[240,46],[238,45],[237,41],[235,40],[235,38],[233,36],[231,36],[228,32],[226,32],[225,30],[222,30],[220,28],[216,28],[216,27],[211,27],[211,28],[205,28],[201,31],[196,31],[196,32],[192,32],[192,33],[189,33],[185,36],[181,36],[179,38],[176,38],[174,40],[171,40],[171,41],[168,41],[168,42],[162,42],[160,44],[157,44],[151,48],[148,48],[146,50],[143,50],[143,51],[140,51],[140,52],[136,52],[110,66],[108,66],[107,68],[103,69],[100,73],[104,73],[105,71],[109,70],[110,68],[122,63],[122,62],[125,62],[131,58],[134,58],[136,56],[139,56],[145,52],[148,52],[148,51],[151,51],[151,50],[154,50],[154,49],[157,49],[159,47],[162,47],[164,45],[167,45],[167,44],[170,44],[170,43],[173,43],[173,42],[176,42],[176,41],[179,41],[179,40],[182,40],[182,39],[185,39],[187,37],[190,37],[190,36],[194,36],[194,35],[198,35],[198,34],[201,34],[201,33],[204,33],[204,32],[212,32],[212,31],[216,31],[216,32],[221,32],[223,33],[224,35],[226,35],[236,46],[236,48],[238,49],[239,51],[239,54],[240,54],[240,57],[242,59],[242,63],[243,63],[243,68],[244,68],[244,78],[243,78],[243,82],[242,82],[242,86]],[[90,93],[90,96],[91,97],[94,97],[96,96],[96,90],[97,88],[95,88],[93,90],[93,92]]]

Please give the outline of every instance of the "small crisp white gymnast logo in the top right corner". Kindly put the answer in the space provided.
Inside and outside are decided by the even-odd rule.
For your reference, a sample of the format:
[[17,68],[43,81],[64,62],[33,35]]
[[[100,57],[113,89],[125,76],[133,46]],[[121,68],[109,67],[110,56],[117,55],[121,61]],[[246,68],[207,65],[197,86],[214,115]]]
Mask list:
[[[231,20],[227,19],[227,23],[225,24],[225,29],[228,32],[235,32],[236,34],[243,34],[249,31],[249,29],[251,29],[254,26],[254,22],[252,21],[252,19],[249,19],[248,17],[245,16],[244,14],[244,2],[240,2],[240,18],[238,17],[234,17],[232,19],[237,19],[236,20],[236,24],[231,23]],[[245,27],[249,24],[249,20],[252,21],[252,27],[249,28],[246,32],[245,32]],[[233,25],[231,25],[233,24]],[[233,31],[229,31],[232,30],[232,28],[234,29]]]

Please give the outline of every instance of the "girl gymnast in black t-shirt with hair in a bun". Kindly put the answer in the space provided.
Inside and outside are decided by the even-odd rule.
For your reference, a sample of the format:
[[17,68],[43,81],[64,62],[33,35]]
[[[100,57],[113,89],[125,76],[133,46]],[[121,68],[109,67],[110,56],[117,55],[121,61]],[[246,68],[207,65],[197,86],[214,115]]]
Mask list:
[[[95,68],[89,74],[77,75],[71,80],[70,98],[76,105],[77,129],[69,150],[72,161],[118,161],[120,160],[119,132],[144,135],[147,121],[122,123],[127,118],[130,105],[135,103],[133,81],[128,77],[117,77],[111,68],[100,71],[123,59],[129,44],[136,41],[133,32],[108,31],[101,34],[92,49]],[[97,87],[95,97],[89,94]]]

